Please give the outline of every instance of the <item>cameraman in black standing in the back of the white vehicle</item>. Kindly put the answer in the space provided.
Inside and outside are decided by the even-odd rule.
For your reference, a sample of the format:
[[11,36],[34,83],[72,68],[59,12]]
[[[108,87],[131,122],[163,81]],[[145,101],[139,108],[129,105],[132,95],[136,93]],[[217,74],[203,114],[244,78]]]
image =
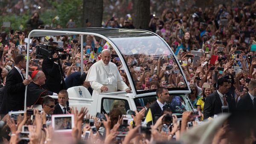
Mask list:
[[[58,46],[56,42],[50,42],[51,46]],[[51,58],[44,58],[42,64],[43,72],[46,76],[46,86],[49,91],[58,93],[61,89],[66,89],[61,61],[58,58],[58,51],[54,50],[54,54]]]

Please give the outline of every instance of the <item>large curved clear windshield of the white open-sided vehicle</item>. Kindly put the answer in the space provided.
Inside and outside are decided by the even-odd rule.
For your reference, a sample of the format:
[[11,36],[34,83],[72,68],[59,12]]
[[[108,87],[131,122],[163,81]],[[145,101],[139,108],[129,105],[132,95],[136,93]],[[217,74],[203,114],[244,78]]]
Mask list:
[[[108,35],[108,38],[121,52],[137,94],[155,92],[151,88],[154,81],[169,90],[189,90],[171,49],[157,35],[120,30],[119,35]],[[134,73],[140,73],[140,76]],[[157,76],[162,78],[157,79]],[[143,81],[142,86],[138,86],[138,81]]]

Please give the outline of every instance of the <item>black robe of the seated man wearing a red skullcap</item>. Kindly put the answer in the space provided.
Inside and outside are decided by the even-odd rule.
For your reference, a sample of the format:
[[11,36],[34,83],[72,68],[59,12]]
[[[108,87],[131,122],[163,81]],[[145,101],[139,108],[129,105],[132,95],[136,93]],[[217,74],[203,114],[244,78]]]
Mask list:
[[34,82],[31,82],[28,85],[28,91],[27,91],[27,106],[28,107],[36,104],[37,101],[41,97],[53,94],[53,92],[48,91],[47,89],[44,89],[43,87],[39,86],[38,84],[35,84]]

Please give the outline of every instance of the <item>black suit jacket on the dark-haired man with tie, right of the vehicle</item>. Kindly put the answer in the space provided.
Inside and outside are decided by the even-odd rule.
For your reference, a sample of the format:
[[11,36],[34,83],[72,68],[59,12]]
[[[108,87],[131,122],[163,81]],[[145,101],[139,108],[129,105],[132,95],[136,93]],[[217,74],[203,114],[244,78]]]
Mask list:
[[[235,99],[231,95],[227,95],[226,101],[228,104],[229,112],[232,112],[236,109]],[[213,115],[217,115],[222,112],[221,110],[222,103],[221,98],[218,95],[218,92],[215,91],[212,94],[206,97],[204,103],[204,119],[212,117]]]

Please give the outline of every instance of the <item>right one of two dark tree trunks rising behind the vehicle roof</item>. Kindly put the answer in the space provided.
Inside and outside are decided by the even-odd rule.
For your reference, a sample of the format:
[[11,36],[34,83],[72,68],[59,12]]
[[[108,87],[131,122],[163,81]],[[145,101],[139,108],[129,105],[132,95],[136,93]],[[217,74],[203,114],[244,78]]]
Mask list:
[[136,29],[148,29],[150,21],[150,0],[134,0],[134,26]]

